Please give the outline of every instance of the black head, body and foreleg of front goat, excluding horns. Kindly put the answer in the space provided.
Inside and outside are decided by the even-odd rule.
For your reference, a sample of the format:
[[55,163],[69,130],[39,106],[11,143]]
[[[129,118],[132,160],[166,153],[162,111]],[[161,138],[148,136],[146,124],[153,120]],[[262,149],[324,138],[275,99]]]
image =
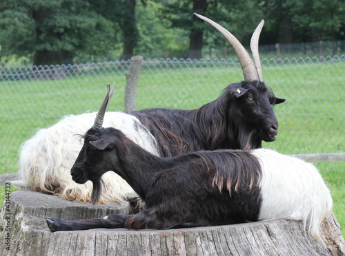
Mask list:
[[[73,180],[100,183],[113,170],[146,202],[136,215],[106,219],[47,220],[51,231],[89,228],[181,228],[257,220],[262,170],[248,150],[199,151],[161,158],[141,149],[121,131],[90,129],[72,167]],[[97,202],[101,186],[95,186]]]

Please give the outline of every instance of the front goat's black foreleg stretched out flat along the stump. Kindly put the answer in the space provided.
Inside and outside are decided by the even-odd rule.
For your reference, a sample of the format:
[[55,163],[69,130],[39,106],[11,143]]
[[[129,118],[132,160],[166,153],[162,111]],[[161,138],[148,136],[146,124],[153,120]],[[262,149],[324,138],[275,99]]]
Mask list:
[[50,231],[82,231],[92,228],[124,228],[126,220],[132,215],[110,214],[92,220],[63,220],[48,217]]

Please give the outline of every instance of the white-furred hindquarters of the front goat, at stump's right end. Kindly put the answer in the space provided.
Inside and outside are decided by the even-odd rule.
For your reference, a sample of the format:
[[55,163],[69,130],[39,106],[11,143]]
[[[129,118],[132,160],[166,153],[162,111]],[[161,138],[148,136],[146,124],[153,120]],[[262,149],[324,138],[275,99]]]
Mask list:
[[319,239],[319,227],[331,211],[333,200],[313,164],[270,149],[255,149],[262,166],[262,206],[259,220],[302,220]]

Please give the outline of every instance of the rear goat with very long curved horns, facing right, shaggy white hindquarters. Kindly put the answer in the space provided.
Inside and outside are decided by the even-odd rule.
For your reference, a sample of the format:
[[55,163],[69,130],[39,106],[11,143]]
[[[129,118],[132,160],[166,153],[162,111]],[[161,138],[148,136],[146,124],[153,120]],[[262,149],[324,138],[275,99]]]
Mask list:
[[[228,85],[216,100],[199,109],[146,109],[129,113],[107,112],[105,127],[121,129],[144,149],[159,156],[179,156],[199,150],[262,147],[262,140],[274,141],[278,122],[271,105],[284,102],[276,98],[262,80],[257,50],[263,22],[253,33],[254,62],[235,36],[217,23],[205,19],[233,46],[242,65],[244,81]],[[96,113],[68,116],[48,129],[39,131],[21,148],[21,184],[34,191],[61,194],[68,200],[89,202],[92,184],[76,184],[68,176],[82,143],[75,134],[84,134]],[[144,136],[144,138],[141,138]],[[108,192],[101,203],[124,200],[135,195],[126,182],[106,173]]]

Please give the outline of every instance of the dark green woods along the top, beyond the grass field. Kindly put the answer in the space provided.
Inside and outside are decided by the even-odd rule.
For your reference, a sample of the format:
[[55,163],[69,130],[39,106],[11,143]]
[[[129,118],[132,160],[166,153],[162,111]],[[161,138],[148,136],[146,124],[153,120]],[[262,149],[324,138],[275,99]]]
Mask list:
[[1,64],[115,61],[133,54],[199,59],[223,51],[221,35],[193,12],[224,25],[244,45],[261,19],[260,45],[345,39],[340,0],[3,0]]

